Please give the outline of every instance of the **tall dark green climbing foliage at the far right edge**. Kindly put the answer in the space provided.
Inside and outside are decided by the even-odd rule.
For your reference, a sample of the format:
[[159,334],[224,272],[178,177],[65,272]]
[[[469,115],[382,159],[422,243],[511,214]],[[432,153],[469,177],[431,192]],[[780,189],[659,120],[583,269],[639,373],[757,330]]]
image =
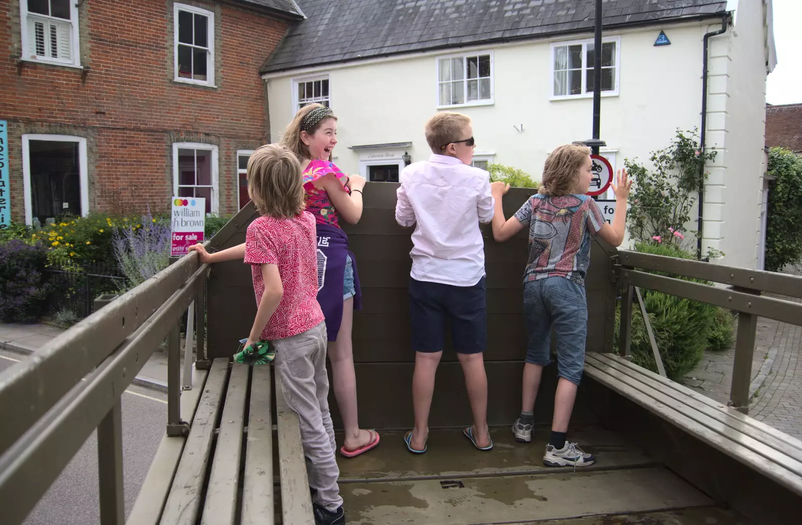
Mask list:
[[766,269],[780,272],[786,265],[802,264],[802,159],[772,147],[768,173],[775,180],[768,189]]

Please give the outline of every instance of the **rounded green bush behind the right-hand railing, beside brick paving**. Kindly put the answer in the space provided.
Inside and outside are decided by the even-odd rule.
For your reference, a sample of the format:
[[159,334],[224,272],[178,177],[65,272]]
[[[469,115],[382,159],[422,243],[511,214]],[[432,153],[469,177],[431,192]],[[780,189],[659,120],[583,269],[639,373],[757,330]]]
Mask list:
[[[683,251],[676,245],[636,244],[638,252],[653,255],[673,256],[681,259],[693,259],[691,252]],[[683,281],[693,281],[711,285],[707,281],[680,277],[661,272],[659,275],[670,275]],[[699,301],[691,301],[666,293],[641,289],[643,304],[654,332],[662,364],[666,375],[671,379],[682,378],[696,365],[699,365],[706,349],[723,349],[731,344],[732,325],[726,319],[731,315],[726,309],[708,305]],[[620,325],[620,309],[616,313],[615,345],[618,348],[618,326]],[[727,329],[728,328],[728,329]],[[638,301],[632,306],[632,331],[630,353],[632,361],[646,369],[657,372],[654,353],[646,333]]]

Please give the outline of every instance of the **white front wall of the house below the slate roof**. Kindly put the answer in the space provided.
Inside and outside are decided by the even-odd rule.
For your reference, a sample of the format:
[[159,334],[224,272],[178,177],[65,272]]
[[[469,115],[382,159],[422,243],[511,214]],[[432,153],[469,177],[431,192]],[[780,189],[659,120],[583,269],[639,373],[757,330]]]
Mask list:
[[[602,98],[602,139],[624,157],[646,158],[668,144],[677,127],[699,127],[702,26],[665,28],[670,46],[654,47],[659,29],[621,33],[620,95]],[[610,34],[612,36],[612,34]],[[462,107],[474,121],[476,153],[522,168],[539,179],[554,147],[589,139],[592,99],[550,101],[550,42],[493,46],[495,104]],[[437,109],[435,55],[321,70],[330,75],[331,106],[339,117],[334,155],[358,170],[349,146],[412,142],[412,160],[430,155],[423,123]],[[314,75],[314,74],[312,74]],[[303,77],[305,75],[298,75]],[[269,79],[273,139],[294,114],[291,79]],[[524,125],[518,133],[513,126]]]

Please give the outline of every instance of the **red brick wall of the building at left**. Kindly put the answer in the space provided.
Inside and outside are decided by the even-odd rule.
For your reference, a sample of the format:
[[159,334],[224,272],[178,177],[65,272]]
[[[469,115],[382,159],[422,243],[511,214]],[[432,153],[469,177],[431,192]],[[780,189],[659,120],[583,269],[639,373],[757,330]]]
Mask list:
[[172,143],[219,147],[221,214],[237,208],[237,149],[265,143],[261,63],[286,22],[236,2],[180,2],[215,14],[215,83],[176,83],[171,0],[80,2],[83,70],[21,63],[19,0],[0,13],[0,119],[9,121],[14,220],[24,217],[22,134],[87,138],[91,209],[164,209]]

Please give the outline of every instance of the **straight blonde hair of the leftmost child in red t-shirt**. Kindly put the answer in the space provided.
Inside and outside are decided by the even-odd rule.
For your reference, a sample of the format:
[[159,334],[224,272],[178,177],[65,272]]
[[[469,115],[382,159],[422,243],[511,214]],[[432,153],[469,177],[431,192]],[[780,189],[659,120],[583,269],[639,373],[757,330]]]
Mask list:
[[291,219],[303,212],[301,163],[279,144],[260,147],[248,160],[248,195],[261,215]]

